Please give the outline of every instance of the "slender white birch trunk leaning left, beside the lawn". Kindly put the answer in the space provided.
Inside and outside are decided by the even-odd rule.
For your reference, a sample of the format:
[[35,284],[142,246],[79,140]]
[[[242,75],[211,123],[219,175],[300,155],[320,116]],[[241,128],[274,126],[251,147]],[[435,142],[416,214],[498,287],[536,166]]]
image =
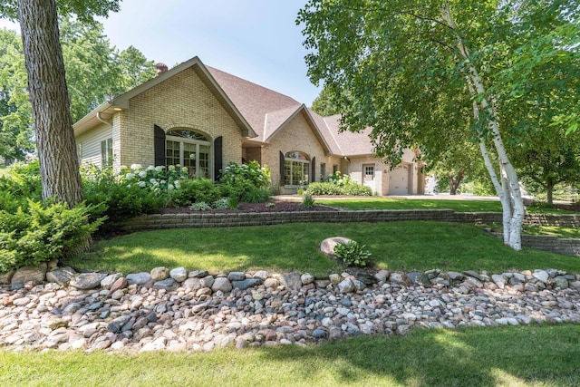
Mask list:
[[[457,31],[457,24],[451,15],[448,2],[446,2],[443,9],[441,9],[441,16],[443,20],[447,22],[449,28],[451,28],[453,31]],[[464,44],[459,34],[458,47],[459,53],[466,61],[468,66],[469,75],[467,82],[469,85],[469,91],[471,92],[474,99],[477,98],[478,101],[474,102],[475,119],[478,119],[479,110],[486,111],[486,115],[488,117],[488,130],[491,134],[491,139],[493,140],[493,144],[498,155],[501,184],[499,183],[495,169],[493,169],[493,165],[489,160],[485,140],[480,140],[479,148],[484,157],[484,161],[486,163],[486,167],[488,168],[488,172],[493,181],[494,187],[498,193],[499,200],[501,201],[503,210],[504,243],[506,243],[507,246],[514,248],[515,250],[520,250],[521,227],[524,221],[525,211],[524,202],[522,200],[521,191],[519,189],[519,180],[517,179],[516,169],[514,169],[513,165],[507,158],[506,148],[504,146],[503,140],[501,139],[501,133],[499,132],[497,112],[493,108],[492,104],[488,102],[488,99],[485,96],[486,90],[483,84],[483,80],[479,76],[475,65],[470,62],[468,48]]]

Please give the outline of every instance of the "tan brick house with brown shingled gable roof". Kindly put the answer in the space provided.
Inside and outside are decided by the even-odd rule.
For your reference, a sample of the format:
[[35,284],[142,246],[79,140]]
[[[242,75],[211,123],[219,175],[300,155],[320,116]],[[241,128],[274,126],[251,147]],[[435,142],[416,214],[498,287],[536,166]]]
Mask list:
[[340,171],[377,195],[422,194],[411,150],[389,166],[373,155],[368,132],[338,133],[339,116],[201,63],[180,63],[104,102],[73,126],[82,163],[181,164],[216,179],[230,161],[257,160],[282,193]]

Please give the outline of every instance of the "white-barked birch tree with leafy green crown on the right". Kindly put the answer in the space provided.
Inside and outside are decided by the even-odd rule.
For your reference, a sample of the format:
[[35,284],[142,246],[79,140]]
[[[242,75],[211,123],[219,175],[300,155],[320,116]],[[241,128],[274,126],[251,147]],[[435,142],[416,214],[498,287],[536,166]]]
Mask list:
[[[536,73],[552,53],[577,48],[558,39],[573,34],[577,9],[576,0],[310,0],[296,23],[311,52],[310,79],[328,87],[343,130],[372,127],[375,151],[391,164],[404,148],[438,149],[441,132],[469,128],[462,138],[478,143],[502,203],[504,242],[520,249],[524,206],[503,139],[526,132],[500,126],[502,113],[511,113],[502,104],[527,82],[514,61]],[[518,117],[529,109],[517,107]],[[447,119],[434,121],[433,112]]]

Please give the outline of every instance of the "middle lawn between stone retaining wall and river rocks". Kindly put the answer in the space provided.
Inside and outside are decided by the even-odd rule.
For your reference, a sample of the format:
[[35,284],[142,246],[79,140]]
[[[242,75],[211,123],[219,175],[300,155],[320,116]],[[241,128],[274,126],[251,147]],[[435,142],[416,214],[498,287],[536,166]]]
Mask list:
[[67,264],[135,273],[184,266],[212,273],[266,269],[315,276],[341,272],[319,251],[326,237],[366,245],[377,268],[395,270],[507,270],[554,267],[580,273],[580,259],[539,250],[517,252],[481,228],[445,222],[304,223],[257,227],[185,228],[139,232],[104,240]]

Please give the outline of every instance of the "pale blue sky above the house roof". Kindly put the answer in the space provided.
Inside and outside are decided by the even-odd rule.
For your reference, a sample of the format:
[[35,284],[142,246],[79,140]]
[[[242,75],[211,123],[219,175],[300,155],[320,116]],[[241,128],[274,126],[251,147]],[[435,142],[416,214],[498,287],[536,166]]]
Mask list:
[[[302,27],[306,0],[122,0],[99,19],[111,45],[133,45],[169,68],[198,56],[202,63],[311,106],[320,93],[306,76]],[[15,29],[0,20],[0,27]]]

